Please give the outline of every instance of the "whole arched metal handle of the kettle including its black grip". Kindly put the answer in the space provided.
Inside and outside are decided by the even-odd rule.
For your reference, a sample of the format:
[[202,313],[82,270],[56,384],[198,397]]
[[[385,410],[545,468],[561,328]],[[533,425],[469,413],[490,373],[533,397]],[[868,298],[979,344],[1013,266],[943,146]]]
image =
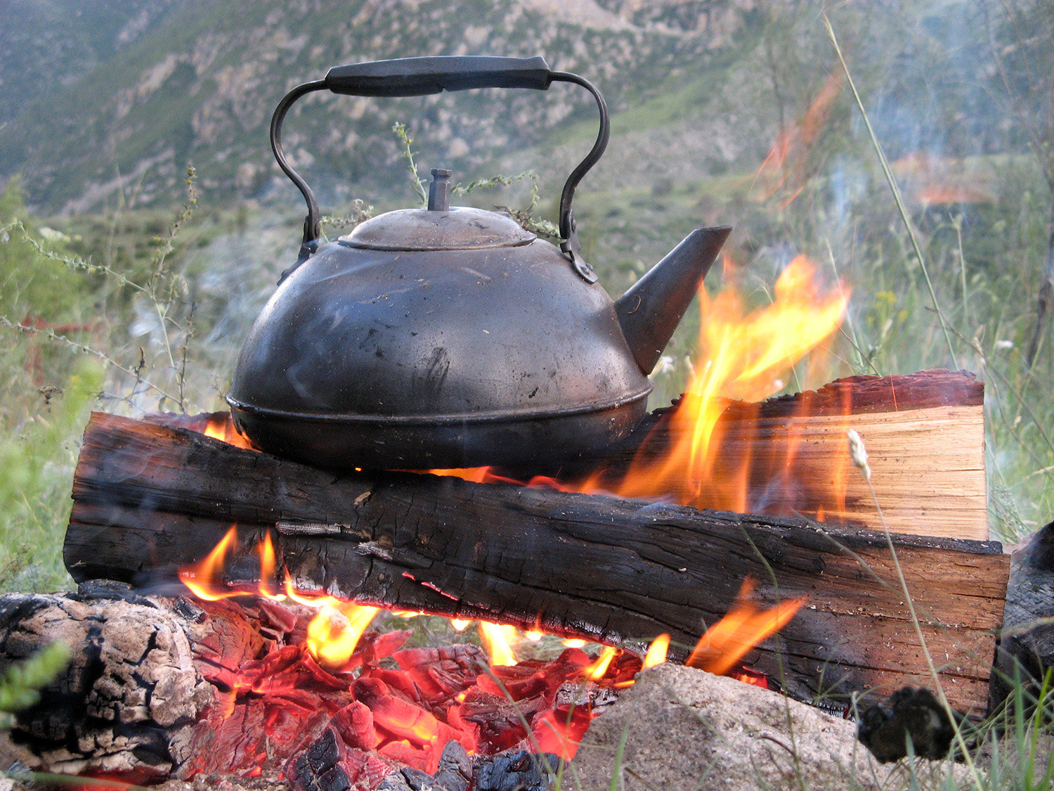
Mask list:
[[[579,249],[571,200],[583,176],[597,163],[610,135],[607,103],[600,91],[585,77],[570,72],[553,72],[545,58],[503,58],[485,56],[436,56],[373,60],[365,63],[334,66],[326,77],[297,85],[282,97],[271,117],[271,150],[278,167],[296,185],[308,204],[304,221],[304,244],[300,262],[307,259],[318,245],[320,213],[318,201],[308,182],[286,160],[281,149],[281,122],[293,102],[313,91],[329,90],[347,96],[424,96],[442,91],[465,91],[473,88],[529,88],[546,91],[553,82],[573,82],[592,94],[600,109],[600,132],[592,149],[571,171],[560,195],[561,248],[573,258]],[[299,263],[299,262],[298,262]]]

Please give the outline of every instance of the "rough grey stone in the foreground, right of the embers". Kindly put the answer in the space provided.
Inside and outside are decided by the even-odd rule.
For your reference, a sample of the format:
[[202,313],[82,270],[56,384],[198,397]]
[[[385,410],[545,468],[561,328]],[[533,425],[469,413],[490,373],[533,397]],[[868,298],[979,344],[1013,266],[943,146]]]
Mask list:
[[951,761],[879,764],[850,719],[734,678],[661,664],[593,720],[572,776],[584,789],[609,788],[618,771],[624,791],[887,791],[907,788],[912,768],[962,774]]

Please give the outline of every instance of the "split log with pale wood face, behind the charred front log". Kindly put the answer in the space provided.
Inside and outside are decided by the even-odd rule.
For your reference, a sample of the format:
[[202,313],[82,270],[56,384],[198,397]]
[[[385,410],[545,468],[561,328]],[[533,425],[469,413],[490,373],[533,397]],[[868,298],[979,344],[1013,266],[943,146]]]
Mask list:
[[[973,374],[932,370],[850,377],[816,391],[730,402],[714,431],[711,477],[737,485],[707,486],[696,496],[684,478],[671,481],[668,495],[699,508],[822,515],[873,529],[983,541],[983,399]],[[675,411],[649,416],[605,462],[612,486],[638,451],[658,456],[676,442],[683,429]],[[870,485],[852,465],[851,428],[866,446]]]

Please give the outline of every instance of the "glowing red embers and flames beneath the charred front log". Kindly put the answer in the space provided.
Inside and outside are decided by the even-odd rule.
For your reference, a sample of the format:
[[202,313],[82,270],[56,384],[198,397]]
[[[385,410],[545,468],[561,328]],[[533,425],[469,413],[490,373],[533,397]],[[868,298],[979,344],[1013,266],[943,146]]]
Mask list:
[[[261,572],[255,590],[222,584],[223,558],[234,557],[235,542],[232,529],[180,578],[211,618],[223,618],[234,600],[249,601],[267,623],[261,633],[272,639],[262,657],[239,667],[222,656],[199,661],[202,676],[219,691],[199,738],[229,748],[200,751],[212,757],[200,758],[193,773],[254,773],[270,760],[287,767],[298,787],[310,788],[309,777],[319,771],[308,755],[320,749],[313,748],[318,739],[326,739],[339,756],[334,766],[339,765],[351,783],[371,773],[383,778],[392,763],[434,775],[443,756],[452,753],[490,756],[520,750],[566,760],[573,757],[592,717],[618,691],[631,686],[642,669],[666,659],[666,634],[657,637],[643,657],[611,647],[590,656],[582,641],[564,640],[565,648],[554,658],[518,659],[512,641],[539,640],[542,635],[525,638],[516,630],[488,622],[479,623],[486,652],[466,643],[404,648],[412,632],[391,629],[393,617],[418,614],[391,614],[379,618],[387,631],[371,630],[377,607],[307,595],[289,578],[280,593],[266,582],[275,564],[269,536],[254,548]],[[761,610],[750,598],[752,590],[747,580],[731,611],[706,630],[687,663],[767,687],[763,674],[740,660],[793,617],[803,599]],[[468,625],[451,623],[454,629]],[[265,713],[254,713],[259,708]],[[305,718],[311,724],[299,721]],[[252,749],[242,745],[247,721],[262,722]],[[305,732],[314,734],[308,746]],[[221,761],[231,755],[238,764],[225,766]]]

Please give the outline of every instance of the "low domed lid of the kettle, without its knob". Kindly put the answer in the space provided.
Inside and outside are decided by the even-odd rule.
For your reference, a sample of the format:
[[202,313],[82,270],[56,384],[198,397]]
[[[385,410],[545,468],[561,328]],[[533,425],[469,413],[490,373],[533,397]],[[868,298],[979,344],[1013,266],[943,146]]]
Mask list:
[[486,250],[538,238],[510,215],[485,209],[397,209],[366,220],[337,240],[367,250]]

